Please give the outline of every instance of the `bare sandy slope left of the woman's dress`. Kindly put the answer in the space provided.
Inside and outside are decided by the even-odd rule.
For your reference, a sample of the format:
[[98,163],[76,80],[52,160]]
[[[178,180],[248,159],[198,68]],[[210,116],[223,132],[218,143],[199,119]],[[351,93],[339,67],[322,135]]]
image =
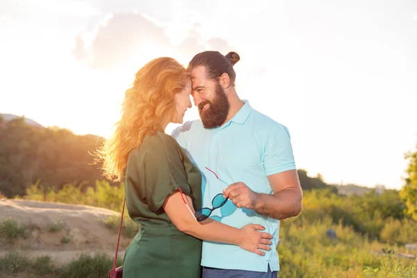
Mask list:
[[[117,234],[104,227],[103,220],[120,216],[115,211],[93,206],[60,204],[9,199],[0,201],[0,222],[11,218],[27,228],[28,238],[13,244],[0,239],[0,256],[10,250],[20,250],[29,257],[51,256],[58,264],[76,259],[81,253],[107,252],[113,257]],[[61,222],[60,231],[51,232],[51,224]],[[61,243],[62,238],[68,243]],[[129,245],[129,238],[120,238],[120,253]]]

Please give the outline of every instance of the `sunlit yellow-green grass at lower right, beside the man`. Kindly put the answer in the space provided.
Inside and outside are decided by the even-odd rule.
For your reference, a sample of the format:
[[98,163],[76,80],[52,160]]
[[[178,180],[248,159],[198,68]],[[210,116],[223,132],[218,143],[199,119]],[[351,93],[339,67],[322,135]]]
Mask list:
[[[327,238],[327,229],[334,229],[338,238]],[[396,256],[401,251],[398,247],[361,236],[342,222],[335,224],[329,216],[312,221],[302,214],[281,221],[279,231],[279,277],[382,278],[413,277],[416,273],[417,261]],[[377,254],[384,248],[394,250],[393,256]]]

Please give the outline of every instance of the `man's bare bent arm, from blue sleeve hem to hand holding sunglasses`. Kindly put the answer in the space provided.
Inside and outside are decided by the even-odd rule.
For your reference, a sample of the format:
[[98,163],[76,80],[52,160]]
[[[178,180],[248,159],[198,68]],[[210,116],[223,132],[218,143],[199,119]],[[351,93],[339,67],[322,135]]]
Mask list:
[[268,176],[272,195],[254,193],[243,182],[231,184],[223,191],[238,208],[253,209],[270,218],[283,220],[302,211],[302,189],[297,170],[288,170]]

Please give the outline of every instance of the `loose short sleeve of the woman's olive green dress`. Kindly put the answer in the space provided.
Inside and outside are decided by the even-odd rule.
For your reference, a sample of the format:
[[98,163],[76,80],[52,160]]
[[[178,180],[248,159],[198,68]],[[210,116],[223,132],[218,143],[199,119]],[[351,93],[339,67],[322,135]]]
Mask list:
[[157,133],[147,139],[138,152],[129,157],[128,170],[136,171],[130,174],[137,177],[136,193],[141,195],[140,199],[147,203],[149,210],[156,213],[165,199],[180,187],[184,194],[190,195],[190,186],[183,155],[174,138]]

